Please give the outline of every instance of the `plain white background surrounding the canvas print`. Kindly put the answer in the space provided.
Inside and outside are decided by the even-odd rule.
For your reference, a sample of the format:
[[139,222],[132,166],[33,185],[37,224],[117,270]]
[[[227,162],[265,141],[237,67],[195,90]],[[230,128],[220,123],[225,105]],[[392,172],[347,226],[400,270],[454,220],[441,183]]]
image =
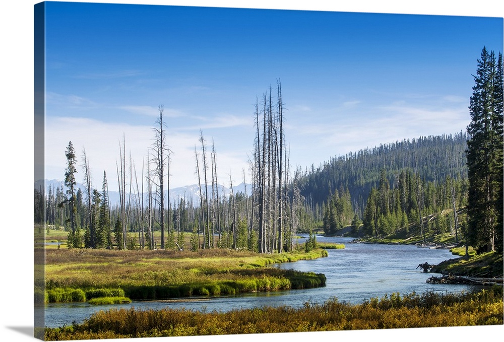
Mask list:
[[[81,0],[81,2],[90,2]],[[95,0],[94,3],[105,1]],[[500,1],[477,2],[432,1],[404,2],[353,0],[347,4],[330,4],[327,0],[310,1],[114,1],[154,5],[245,7],[341,12],[373,12],[503,17]],[[0,5],[0,336],[2,341],[33,340],[33,5],[37,1],[5,0]],[[503,51],[504,52],[504,51]],[[475,59],[479,56],[475,56]],[[475,64],[476,67],[476,64]],[[339,340],[426,339],[471,340],[497,338],[504,326],[395,329],[373,331],[335,331],[241,335],[243,341],[317,338]],[[166,337],[128,339],[138,341],[232,341],[236,336]],[[124,341],[113,339],[110,341]]]

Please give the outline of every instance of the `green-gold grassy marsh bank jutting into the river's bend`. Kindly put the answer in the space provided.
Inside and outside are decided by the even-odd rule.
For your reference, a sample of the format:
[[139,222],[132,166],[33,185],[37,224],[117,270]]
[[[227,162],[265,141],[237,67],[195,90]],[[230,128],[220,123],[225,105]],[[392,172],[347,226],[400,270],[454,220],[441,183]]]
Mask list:
[[[88,300],[120,296],[145,300],[322,287],[324,275],[265,266],[327,255],[322,249],[267,256],[226,249],[47,250],[46,289],[82,289]],[[104,289],[123,293],[97,294]]]

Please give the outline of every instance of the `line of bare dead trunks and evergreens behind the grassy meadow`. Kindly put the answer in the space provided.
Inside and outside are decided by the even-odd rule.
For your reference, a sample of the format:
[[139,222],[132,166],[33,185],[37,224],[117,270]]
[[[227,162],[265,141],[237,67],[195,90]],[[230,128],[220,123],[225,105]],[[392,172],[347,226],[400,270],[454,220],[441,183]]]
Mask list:
[[[217,153],[207,145],[200,130],[195,144],[195,175],[199,200],[169,198],[170,165],[163,106],[153,127],[154,143],[137,168],[127,154],[126,140],[118,144],[116,161],[119,202],[111,205],[106,171],[101,190],[91,182],[90,161],[85,149],[81,165],[72,142],[65,155],[64,187],[48,193],[35,189],[35,222],[64,227],[70,248],[232,248],[261,253],[289,250],[298,225],[296,213],[302,199],[296,186],[298,173],[290,175],[283,128],[282,90],[270,86],[262,102],[256,100],[256,136],[249,170],[242,170],[244,192],[234,191],[229,180],[217,178]],[[83,173],[84,186],[76,176]],[[246,174],[252,180],[246,187]],[[229,181],[230,193],[220,193],[219,182]],[[190,234],[189,246],[184,233]],[[160,234],[158,237],[156,234]]]

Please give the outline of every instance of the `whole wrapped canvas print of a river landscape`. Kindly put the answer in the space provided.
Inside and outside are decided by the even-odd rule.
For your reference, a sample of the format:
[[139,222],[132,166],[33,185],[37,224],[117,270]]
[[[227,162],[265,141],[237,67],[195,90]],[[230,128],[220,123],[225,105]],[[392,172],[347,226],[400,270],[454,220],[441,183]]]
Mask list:
[[34,14],[35,337],[503,324],[502,18]]

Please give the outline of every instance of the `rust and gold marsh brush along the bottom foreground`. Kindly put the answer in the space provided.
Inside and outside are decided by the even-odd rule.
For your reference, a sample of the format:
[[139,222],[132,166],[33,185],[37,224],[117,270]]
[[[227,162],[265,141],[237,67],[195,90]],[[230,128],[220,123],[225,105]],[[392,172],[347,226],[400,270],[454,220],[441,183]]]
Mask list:
[[112,309],[82,324],[47,328],[46,340],[134,338],[299,331],[503,324],[502,287],[479,293],[392,294],[358,305],[324,303],[201,312],[187,309]]

